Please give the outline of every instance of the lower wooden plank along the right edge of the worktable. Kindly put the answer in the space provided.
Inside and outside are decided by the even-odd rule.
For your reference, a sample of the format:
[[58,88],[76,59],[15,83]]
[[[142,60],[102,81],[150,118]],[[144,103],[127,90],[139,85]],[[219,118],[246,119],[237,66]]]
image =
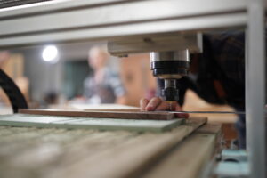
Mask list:
[[202,127],[141,177],[201,177],[201,171],[212,158],[217,136],[221,133],[220,125]]

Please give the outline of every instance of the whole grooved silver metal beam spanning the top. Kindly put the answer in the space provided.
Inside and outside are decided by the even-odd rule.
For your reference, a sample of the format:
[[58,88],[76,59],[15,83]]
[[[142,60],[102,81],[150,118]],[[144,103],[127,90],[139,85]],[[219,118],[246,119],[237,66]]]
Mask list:
[[6,8],[0,47],[245,26],[246,2],[76,0]]

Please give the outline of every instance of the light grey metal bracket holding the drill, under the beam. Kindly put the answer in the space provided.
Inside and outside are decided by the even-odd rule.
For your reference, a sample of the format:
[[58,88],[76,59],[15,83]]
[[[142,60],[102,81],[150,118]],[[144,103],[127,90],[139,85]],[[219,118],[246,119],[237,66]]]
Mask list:
[[169,33],[133,36],[109,41],[111,55],[127,56],[130,53],[164,52],[189,49],[190,53],[202,52],[202,34]]

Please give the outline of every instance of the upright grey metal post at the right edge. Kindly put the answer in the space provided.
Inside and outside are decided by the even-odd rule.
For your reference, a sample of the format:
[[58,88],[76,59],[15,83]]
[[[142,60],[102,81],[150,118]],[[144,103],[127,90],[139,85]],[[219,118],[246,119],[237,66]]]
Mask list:
[[246,59],[246,127],[251,178],[266,177],[265,37],[263,0],[249,0]]

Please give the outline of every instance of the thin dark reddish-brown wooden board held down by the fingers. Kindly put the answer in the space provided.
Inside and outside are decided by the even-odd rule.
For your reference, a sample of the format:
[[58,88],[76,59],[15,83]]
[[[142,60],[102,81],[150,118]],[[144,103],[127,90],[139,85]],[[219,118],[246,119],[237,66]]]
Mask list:
[[98,118],[124,118],[124,119],[152,119],[170,120],[174,113],[158,113],[144,111],[82,111],[82,110],[60,110],[60,109],[20,109],[19,113],[61,116],[61,117],[98,117]]

